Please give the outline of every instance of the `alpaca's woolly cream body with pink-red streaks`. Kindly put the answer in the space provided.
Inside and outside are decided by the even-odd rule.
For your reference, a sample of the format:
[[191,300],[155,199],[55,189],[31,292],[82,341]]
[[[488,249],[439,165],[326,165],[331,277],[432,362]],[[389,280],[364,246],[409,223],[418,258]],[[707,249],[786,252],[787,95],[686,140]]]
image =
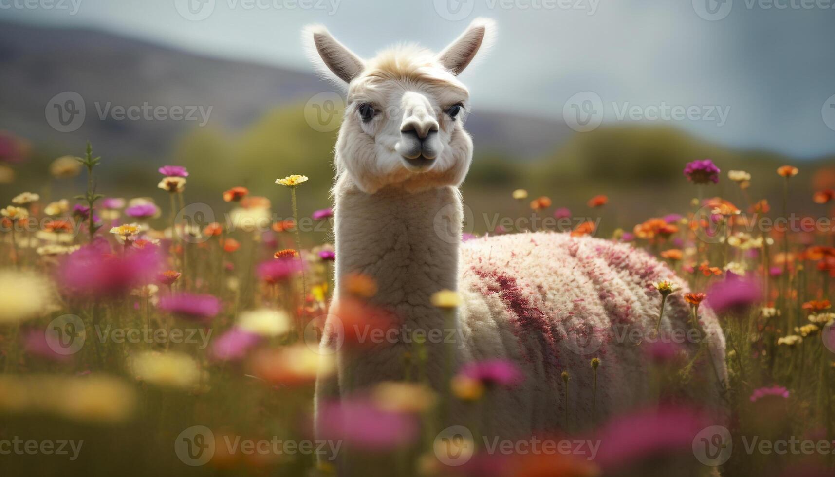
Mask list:
[[[686,282],[629,245],[549,232],[495,236],[465,242],[461,261],[459,323],[469,358],[509,358],[526,377],[519,388],[493,396],[496,408],[513,409],[494,415],[497,434],[565,429],[563,371],[570,378],[565,430],[587,428],[593,419],[591,358],[601,360],[598,423],[652,399],[648,343],[630,338],[653,336],[660,294],[651,283],[667,280],[682,290],[667,298],[660,336],[675,330],[679,334],[672,336],[683,337],[691,328],[682,297]],[[697,362],[690,391],[721,414],[725,338],[709,308],[701,308],[700,318],[713,363]],[[682,346],[690,355],[698,348]]]

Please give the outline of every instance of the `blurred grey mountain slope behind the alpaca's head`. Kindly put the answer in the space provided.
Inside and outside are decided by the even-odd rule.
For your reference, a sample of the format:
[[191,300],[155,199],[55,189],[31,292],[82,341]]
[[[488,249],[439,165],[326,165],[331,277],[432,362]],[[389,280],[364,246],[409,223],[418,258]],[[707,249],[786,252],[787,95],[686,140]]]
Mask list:
[[[311,73],[207,58],[114,33],[0,23],[0,129],[56,152],[78,153],[91,140],[110,157],[158,164],[195,129],[239,133],[276,108],[305,104],[331,89]],[[85,117],[77,130],[58,132],[48,123],[48,109],[67,91],[80,94]],[[119,120],[111,113],[144,104],[211,109],[202,126],[200,120]],[[565,124],[551,119],[481,109],[467,127],[478,150],[514,160],[542,155],[569,135]]]

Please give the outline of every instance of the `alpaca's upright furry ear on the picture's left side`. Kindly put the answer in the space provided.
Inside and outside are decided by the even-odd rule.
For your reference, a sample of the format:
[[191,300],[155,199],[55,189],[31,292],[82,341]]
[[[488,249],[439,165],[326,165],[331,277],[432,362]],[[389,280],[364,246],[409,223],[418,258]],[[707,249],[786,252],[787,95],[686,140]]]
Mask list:
[[307,56],[316,64],[321,74],[331,79],[351,83],[365,69],[362,58],[352,53],[342,43],[333,38],[327,28],[310,25],[301,31]]

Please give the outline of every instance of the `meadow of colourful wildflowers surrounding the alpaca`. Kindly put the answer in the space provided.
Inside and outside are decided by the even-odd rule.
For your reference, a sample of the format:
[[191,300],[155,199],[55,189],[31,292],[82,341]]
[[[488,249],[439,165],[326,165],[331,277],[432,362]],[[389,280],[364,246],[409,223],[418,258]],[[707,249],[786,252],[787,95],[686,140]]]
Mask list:
[[[9,150],[20,141],[5,139]],[[94,146],[43,170],[47,181],[83,178],[74,195],[49,195],[47,185],[16,190],[3,205],[3,475],[331,475],[345,462],[357,474],[428,476],[832,474],[835,235],[819,225],[835,192],[803,192],[821,216],[788,221],[801,165],[770,171],[782,187],[757,196],[756,174],[693,158],[679,179],[689,206],[665,216],[648,207],[634,224],[605,214],[614,195],[569,211],[555,190],[497,190],[495,203],[517,211],[510,225],[467,232],[465,244],[534,231],[598,236],[655,256],[690,291],[647,280],[645,293],[660,303],[655,329],[612,330],[650,358],[640,406],[599,414],[600,376],[612,362],[578,343],[587,364],[553,370],[562,383],[554,405],[589,386],[590,402],[561,408],[558,433],[493,441],[482,439],[479,419],[442,429],[442,416],[486,405],[498,388],[512,392],[522,373],[477,356],[433,387],[428,353],[443,347],[429,348],[431,335],[408,336],[394,363],[405,379],[360,386],[314,410],[316,379],[336,373],[340,356],[320,348],[327,317],[339,317],[338,347],[354,356],[405,337],[392,334],[396,311],[371,304],[387,285],[371,277],[338,277],[347,292],[331,309],[339,211],[308,194],[305,170],[276,165],[276,177],[258,179],[269,196],[229,184],[215,192],[225,204],[218,210],[190,201],[190,170],[179,165],[160,167],[157,184],[141,185],[144,196],[120,195],[100,180],[113,165]],[[726,196],[716,195],[720,182]],[[276,219],[276,205],[292,216]],[[520,218],[539,221],[517,227]],[[560,220],[569,230],[558,230]],[[682,299],[689,324],[669,333],[661,317]],[[432,297],[448,317],[461,300],[451,290]],[[679,392],[699,373],[719,373],[704,339],[706,310],[726,343],[718,417]],[[577,424],[580,406],[592,424]]]

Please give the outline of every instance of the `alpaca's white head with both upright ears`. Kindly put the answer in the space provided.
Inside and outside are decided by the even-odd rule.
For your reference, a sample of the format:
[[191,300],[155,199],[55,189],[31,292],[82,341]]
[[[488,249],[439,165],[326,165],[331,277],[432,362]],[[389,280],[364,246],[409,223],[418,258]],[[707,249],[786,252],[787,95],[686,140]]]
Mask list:
[[337,140],[337,171],[363,191],[458,185],[473,158],[463,123],[468,89],[457,76],[493,38],[491,20],[477,19],[441,53],[399,46],[364,60],[321,26],[304,38],[321,71],[347,85]]

